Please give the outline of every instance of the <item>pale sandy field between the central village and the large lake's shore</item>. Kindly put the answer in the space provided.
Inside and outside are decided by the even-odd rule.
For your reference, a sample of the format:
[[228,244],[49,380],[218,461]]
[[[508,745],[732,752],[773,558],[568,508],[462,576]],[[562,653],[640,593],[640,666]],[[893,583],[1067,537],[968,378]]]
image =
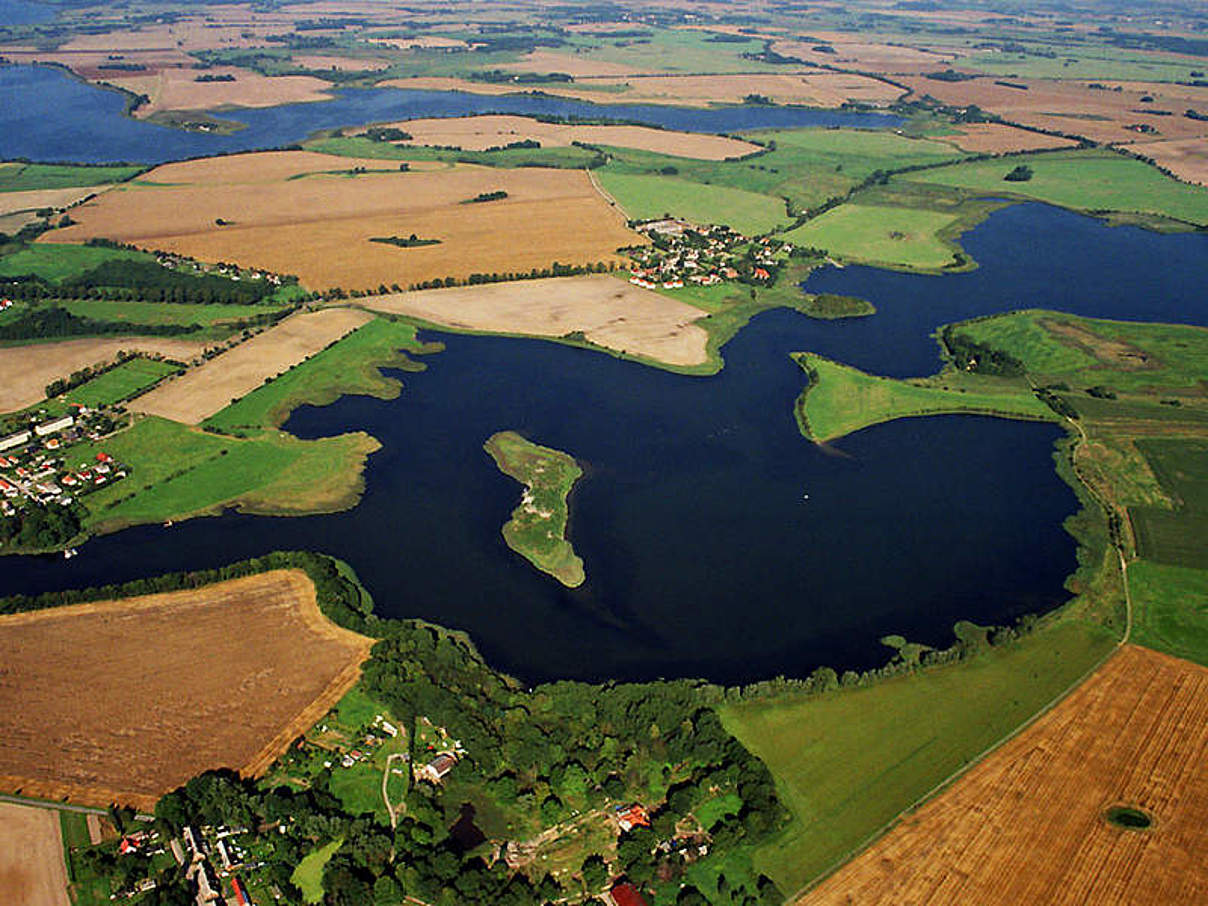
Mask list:
[[696,324],[704,312],[605,274],[402,292],[359,304],[461,330],[539,337],[582,331],[598,345],[669,365],[707,360],[708,335]]

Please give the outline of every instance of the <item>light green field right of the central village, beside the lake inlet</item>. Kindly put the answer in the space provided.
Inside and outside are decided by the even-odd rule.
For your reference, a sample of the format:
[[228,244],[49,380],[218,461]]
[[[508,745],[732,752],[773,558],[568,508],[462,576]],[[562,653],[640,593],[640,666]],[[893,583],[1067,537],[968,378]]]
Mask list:
[[939,271],[956,263],[960,249],[947,233],[959,222],[958,215],[942,211],[843,204],[783,238],[846,261]]

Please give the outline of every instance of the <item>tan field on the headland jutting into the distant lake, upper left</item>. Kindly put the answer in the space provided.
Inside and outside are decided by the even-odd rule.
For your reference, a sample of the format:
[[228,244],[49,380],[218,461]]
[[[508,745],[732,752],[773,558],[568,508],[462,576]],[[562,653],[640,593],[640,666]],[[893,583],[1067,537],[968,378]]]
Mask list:
[[146,94],[150,104],[135,112],[146,117],[161,110],[215,110],[217,108],[271,108],[309,100],[330,100],[330,82],[314,76],[262,76],[245,69],[215,66],[207,75],[233,75],[233,82],[198,82],[202,75],[191,69],[163,69],[155,75],[109,79],[135,94]]

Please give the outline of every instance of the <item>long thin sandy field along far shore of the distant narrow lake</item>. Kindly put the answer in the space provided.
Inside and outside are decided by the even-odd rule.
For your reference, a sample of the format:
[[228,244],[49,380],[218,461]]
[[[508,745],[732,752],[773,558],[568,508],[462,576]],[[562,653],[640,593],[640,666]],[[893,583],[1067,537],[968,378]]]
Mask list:
[[[597,85],[623,91],[592,91]],[[463,91],[474,94],[513,94],[524,86],[471,82],[463,79],[419,77],[388,79],[384,87],[417,88],[428,91]],[[892,85],[861,75],[847,72],[819,72],[809,70],[797,74],[766,75],[634,75],[581,79],[571,85],[548,87],[551,94],[587,100],[594,104],[675,104],[681,106],[708,106],[709,104],[741,104],[748,94],[762,94],[777,104],[807,104],[834,108],[846,100],[869,104],[889,104],[902,92]]]

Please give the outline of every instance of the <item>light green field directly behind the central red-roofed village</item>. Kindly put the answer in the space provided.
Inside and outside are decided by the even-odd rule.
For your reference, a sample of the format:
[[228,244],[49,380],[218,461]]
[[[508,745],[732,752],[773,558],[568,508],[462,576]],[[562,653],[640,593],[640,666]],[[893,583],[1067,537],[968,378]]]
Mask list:
[[768,233],[789,223],[784,201],[727,186],[705,186],[674,176],[639,176],[604,170],[600,185],[631,220],[667,214],[693,223],[725,223],[747,236]]

